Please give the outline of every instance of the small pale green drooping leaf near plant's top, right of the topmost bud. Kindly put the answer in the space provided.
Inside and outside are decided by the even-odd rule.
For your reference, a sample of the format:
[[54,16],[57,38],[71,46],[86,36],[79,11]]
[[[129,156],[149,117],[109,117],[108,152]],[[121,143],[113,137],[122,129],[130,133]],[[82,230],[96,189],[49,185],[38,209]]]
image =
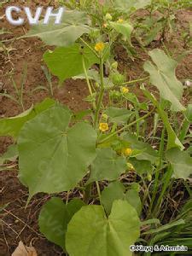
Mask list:
[[124,21],[119,23],[111,21],[110,25],[116,30],[116,32],[122,34],[129,42],[129,44],[131,44],[131,32],[133,31],[133,26],[131,26],[129,22]]

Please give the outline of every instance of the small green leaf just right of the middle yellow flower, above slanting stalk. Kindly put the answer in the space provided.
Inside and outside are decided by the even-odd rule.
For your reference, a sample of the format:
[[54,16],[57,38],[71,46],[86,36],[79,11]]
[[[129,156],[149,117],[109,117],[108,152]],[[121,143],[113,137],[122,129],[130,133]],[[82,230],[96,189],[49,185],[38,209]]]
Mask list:
[[114,108],[110,107],[105,110],[109,120],[113,123],[122,124],[127,123],[128,119],[131,117],[131,111],[126,108]]

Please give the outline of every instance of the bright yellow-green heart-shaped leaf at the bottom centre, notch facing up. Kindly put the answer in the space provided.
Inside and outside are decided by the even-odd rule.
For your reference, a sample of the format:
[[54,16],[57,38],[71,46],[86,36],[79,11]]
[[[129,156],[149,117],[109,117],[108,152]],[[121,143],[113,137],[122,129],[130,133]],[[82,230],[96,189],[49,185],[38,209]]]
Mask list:
[[67,253],[73,256],[131,256],[140,221],[126,201],[114,201],[107,218],[101,206],[82,207],[67,228]]

